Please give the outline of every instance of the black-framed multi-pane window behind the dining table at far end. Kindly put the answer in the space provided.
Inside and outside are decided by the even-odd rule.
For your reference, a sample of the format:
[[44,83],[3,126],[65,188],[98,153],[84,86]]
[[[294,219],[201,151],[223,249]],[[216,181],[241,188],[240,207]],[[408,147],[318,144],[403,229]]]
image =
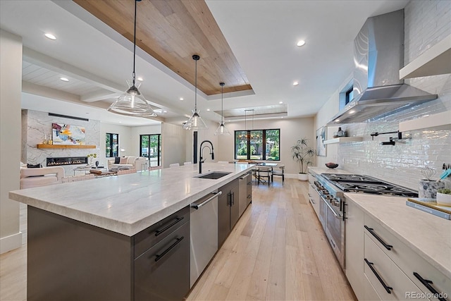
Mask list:
[[235,130],[235,159],[280,160],[280,129]]

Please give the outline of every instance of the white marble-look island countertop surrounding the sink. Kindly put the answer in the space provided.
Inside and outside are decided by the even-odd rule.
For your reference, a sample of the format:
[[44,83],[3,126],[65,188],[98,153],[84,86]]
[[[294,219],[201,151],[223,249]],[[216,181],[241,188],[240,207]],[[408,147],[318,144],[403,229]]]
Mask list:
[[76,221],[132,236],[247,173],[253,165],[202,164],[217,180],[193,178],[197,164],[15,190],[9,197]]

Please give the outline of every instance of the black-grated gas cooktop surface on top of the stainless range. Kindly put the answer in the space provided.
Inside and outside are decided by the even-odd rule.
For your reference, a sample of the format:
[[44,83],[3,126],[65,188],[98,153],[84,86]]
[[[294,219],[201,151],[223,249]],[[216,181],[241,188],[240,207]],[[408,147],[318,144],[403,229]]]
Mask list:
[[400,197],[418,197],[418,192],[400,185],[388,183],[364,175],[339,173],[321,173],[321,176],[343,192],[364,192],[376,195],[395,195]]

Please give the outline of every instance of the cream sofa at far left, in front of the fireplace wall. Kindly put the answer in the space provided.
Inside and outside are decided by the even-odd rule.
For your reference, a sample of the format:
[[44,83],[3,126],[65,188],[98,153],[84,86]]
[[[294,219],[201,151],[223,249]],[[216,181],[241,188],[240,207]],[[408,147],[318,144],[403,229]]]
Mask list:
[[20,168],[20,189],[62,183],[64,168],[61,166]]

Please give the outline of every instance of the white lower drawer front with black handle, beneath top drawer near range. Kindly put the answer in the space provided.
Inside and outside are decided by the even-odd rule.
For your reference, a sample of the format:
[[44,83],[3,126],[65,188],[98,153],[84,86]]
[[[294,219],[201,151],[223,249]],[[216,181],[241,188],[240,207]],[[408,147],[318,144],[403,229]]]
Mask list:
[[364,244],[364,274],[382,300],[406,300],[412,295],[416,300],[427,300],[419,298],[421,290],[366,233]]

